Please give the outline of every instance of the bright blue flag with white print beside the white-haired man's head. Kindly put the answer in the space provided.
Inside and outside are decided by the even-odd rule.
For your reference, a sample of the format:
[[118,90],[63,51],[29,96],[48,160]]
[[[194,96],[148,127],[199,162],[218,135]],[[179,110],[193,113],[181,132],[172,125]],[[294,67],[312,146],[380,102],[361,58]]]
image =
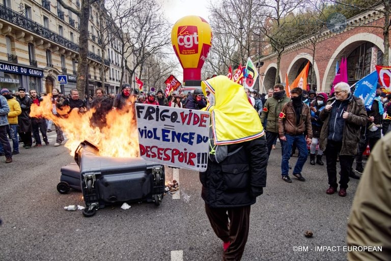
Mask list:
[[376,96],[377,80],[377,71],[374,71],[356,83],[356,90],[353,95],[364,101],[364,105],[367,110],[371,109],[373,100]]

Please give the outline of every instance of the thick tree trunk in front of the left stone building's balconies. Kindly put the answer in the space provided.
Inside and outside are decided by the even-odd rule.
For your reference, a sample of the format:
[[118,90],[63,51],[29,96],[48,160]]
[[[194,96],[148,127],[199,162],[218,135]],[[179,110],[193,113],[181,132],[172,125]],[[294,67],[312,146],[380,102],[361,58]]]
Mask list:
[[80,36],[79,36],[79,58],[77,66],[76,89],[79,91],[79,97],[84,98],[86,91],[86,82],[88,82],[88,20],[90,19],[90,2],[81,0],[80,7]]

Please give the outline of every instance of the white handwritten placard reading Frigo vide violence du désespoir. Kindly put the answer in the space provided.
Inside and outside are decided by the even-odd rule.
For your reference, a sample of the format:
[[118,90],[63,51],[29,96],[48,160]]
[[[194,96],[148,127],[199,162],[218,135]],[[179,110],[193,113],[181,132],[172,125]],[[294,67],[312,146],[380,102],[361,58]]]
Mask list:
[[160,164],[205,171],[210,113],[136,104],[140,156]]

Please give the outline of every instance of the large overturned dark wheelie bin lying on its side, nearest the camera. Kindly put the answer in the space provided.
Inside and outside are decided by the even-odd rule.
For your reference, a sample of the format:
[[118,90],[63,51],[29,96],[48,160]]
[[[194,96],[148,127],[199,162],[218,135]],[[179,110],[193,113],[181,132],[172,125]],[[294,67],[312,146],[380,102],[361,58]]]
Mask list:
[[98,149],[81,142],[75,152],[80,167],[85,217],[116,202],[153,201],[158,206],[164,194],[164,166],[142,158],[112,158],[96,155]]

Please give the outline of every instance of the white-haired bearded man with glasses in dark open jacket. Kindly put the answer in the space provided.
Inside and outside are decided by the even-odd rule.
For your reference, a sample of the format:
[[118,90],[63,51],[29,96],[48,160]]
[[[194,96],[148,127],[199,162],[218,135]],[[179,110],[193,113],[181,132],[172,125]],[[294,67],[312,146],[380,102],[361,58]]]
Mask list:
[[337,157],[340,155],[341,179],[339,195],[346,196],[349,172],[357,153],[360,128],[367,124],[367,111],[364,102],[352,95],[349,84],[339,82],[334,87],[333,98],[320,112],[323,121],[320,132],[320,149],[325,152],[327,162],[327,194],[337,191]]

